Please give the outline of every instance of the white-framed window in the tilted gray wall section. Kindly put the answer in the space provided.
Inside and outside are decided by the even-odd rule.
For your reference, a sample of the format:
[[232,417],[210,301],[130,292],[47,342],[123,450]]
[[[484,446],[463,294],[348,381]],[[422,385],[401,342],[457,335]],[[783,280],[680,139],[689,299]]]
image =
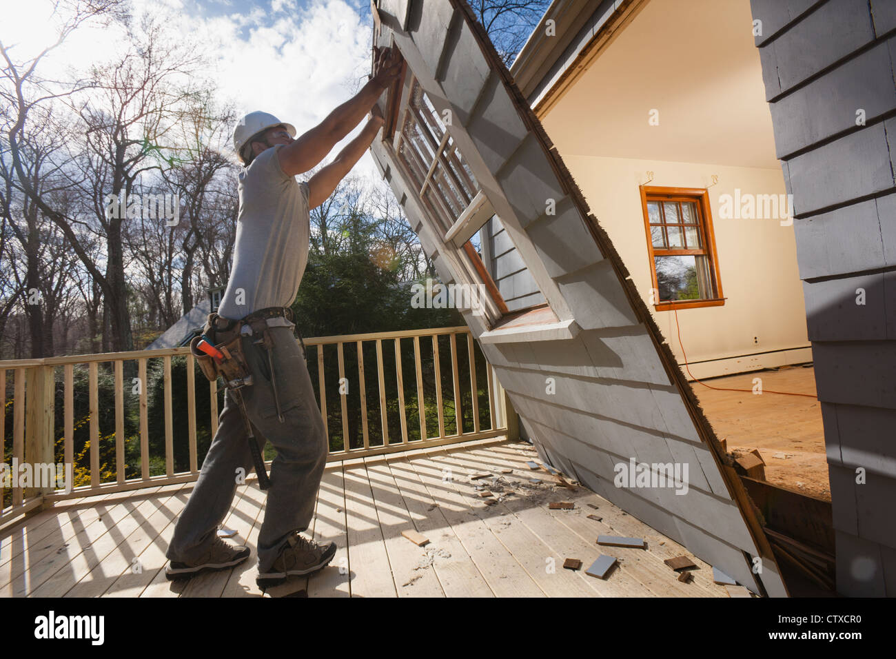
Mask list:
[[393,140],[421,203],[494,303],[494,319],[547,301],[419,82],[410,76]]

